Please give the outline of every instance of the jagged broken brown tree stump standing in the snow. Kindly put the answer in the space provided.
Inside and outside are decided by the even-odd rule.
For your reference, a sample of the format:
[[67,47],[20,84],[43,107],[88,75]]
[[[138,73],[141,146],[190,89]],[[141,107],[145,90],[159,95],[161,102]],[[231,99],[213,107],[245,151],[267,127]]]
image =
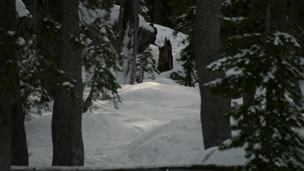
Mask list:
[[164,39],[164,44],[159,47],[159,57],[157,69],[159,72],[165,72],[173,69],[173,56],[171,42],[167,38]]

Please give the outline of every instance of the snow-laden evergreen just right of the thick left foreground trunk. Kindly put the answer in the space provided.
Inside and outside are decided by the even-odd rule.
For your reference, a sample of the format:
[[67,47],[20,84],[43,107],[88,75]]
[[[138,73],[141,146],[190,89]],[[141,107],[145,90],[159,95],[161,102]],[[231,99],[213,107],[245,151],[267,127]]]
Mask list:
[[96,100],[110,100],[115,108],[118,108],[120,101],[117,91],[120,85],[116,82],[113,72],[120,71],[123,56],[112,46],[114,35],[111,26],[101,23],[98,29],[94,41],[82,36],[82,42],[88,42],[83,44],[82,50],[87,75],[84,79],[82,112],[102,107],[92,103]]

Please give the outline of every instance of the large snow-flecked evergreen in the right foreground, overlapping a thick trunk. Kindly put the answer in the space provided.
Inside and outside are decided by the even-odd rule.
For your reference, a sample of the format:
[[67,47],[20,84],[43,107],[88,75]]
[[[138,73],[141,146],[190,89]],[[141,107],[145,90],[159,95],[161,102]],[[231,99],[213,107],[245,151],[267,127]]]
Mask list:
[[299,170],[304,164],[304,138],[298,128],[303,127],[304,117],[301,106],[292,101],[301,95],[294,83],[303,78],[303,57],[296,55],[300,45],[278,31],[277,18],[272,16],[277,6],[272,1],[225,2],[245,10],[222,17],[237,34],[224,41],[224,57],[207,69],[229,74],[205,86],[225,97],[252,95],[227,113],[237,121],[231,128],[238,134],[221,149],[244,146],[245,170]]

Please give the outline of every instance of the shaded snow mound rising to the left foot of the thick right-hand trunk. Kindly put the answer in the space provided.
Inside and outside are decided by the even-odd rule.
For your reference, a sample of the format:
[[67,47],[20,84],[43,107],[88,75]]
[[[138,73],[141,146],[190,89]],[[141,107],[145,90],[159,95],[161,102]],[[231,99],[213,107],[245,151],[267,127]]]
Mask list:
[[198,164],[203,153],[199,117],[172,120],[130,143],[125,153],[141,165]]

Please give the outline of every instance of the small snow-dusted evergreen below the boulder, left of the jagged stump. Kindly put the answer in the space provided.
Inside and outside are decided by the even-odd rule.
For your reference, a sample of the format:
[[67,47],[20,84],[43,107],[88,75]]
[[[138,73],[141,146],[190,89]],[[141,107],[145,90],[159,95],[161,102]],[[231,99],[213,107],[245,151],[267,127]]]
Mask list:
[[137,55],[135,80],[138,83],[142,83],[143,79],[155,79],[155,73],[159,74],[151,51],[148,47]]

